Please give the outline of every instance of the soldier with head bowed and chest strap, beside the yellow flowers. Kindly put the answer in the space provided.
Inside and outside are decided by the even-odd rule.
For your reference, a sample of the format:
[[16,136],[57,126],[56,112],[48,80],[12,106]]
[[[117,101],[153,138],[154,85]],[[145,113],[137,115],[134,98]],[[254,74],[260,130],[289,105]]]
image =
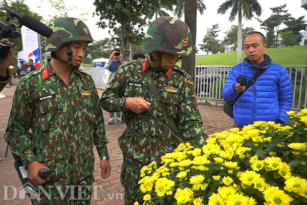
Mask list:
[[[138,186],[140,169],[153,160],[159,163],[161,156],[173,151],[180,142],[168,130],[171,129],[168,120],[145,77],[146,69],[151,71],[159,91],[158,100],[166,105],[182,139],[202,146],[207,137],[202,128],[193,80],[174,65],[180,55],[192,52],[188,26],[177,18],[157,18],[149,25],[142,49],[149,53],[148,57],[122,65],[100,99],[103,109],[123,111],[125,115],[127,128],[119,137],[123,153],[121,183],[125,188],[125,204],[142,200]],[[152,116],[166,124],[168,129]]]

